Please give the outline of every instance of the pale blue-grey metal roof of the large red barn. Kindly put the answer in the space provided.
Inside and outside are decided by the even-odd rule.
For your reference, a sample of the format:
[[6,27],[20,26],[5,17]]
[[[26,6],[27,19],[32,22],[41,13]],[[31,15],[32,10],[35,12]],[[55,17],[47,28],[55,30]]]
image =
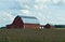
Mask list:
[[39,24],[39,20],[32,16],[20,16],[24,24]]

